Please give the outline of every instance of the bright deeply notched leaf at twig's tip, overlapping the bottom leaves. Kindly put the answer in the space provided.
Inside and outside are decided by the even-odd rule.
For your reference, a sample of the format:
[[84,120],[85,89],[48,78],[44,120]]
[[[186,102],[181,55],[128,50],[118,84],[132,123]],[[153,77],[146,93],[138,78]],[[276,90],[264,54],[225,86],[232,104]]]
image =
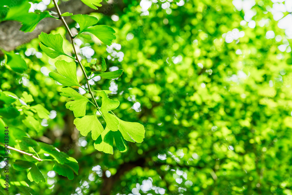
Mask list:
[[119,106],[120,102],[109,99],[105,91],[100,92],[100,97],[102,98],[100,111],[105,118],[105,122],[107,124],[106,127],[109,130],[117,131],[119,127],[119,121],[114,115],[108,113],[108,111],[116,109]]

